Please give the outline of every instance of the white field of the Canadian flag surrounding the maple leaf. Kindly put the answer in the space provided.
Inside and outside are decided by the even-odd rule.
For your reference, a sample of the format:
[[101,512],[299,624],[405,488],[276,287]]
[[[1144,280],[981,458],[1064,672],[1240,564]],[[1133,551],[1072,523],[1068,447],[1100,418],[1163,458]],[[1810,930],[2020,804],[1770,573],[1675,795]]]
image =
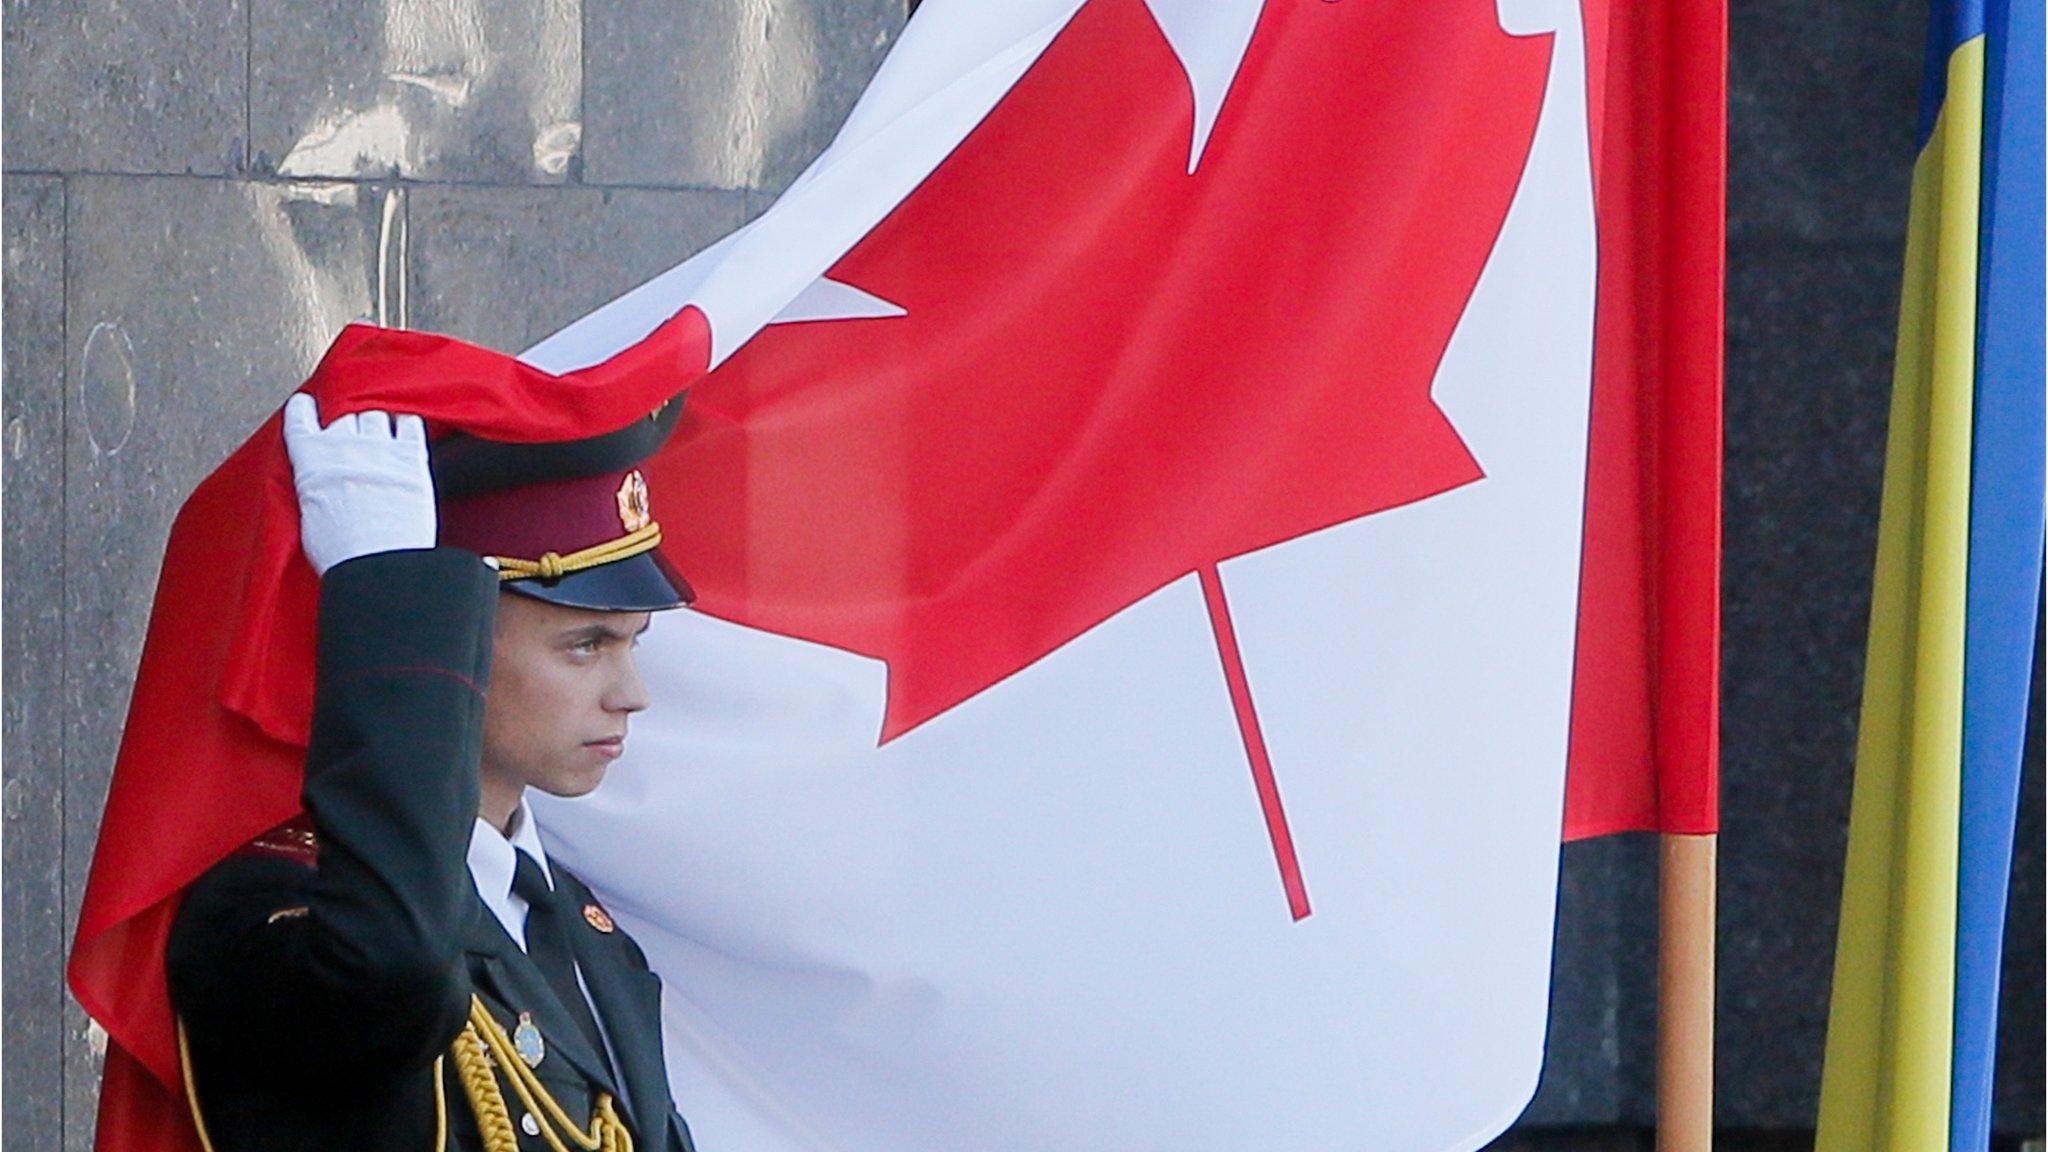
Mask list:
[[[819,164],[932,115],[887,90],[946,72],[911,51],[1010,59],[956,27],[973,8],[926,6]],[[1503,27],[1556,29],[1536,143],[1434,383],[1485,480],[1221,568],[1313,914],[1280,892],[1194,576],[887,746],[883,664],[657,617],[625,760],[537,812],[666,980],[700,1148],[1450,1152],[1526,1105],[1595,256],[1579,16],[1528,8]],[[1018,55],[1042,47],[1044,20],[1006,18],[1030,33]],[[815,180],[788,219],[823,211],[799,195]],[[778,211],[739,244],[797,236]],[[612,307],[725,299],[748,275],[698,262],[670,279],[694,279],[682,297]],[[545,359],[598,359],[637,324],[600,310]]]

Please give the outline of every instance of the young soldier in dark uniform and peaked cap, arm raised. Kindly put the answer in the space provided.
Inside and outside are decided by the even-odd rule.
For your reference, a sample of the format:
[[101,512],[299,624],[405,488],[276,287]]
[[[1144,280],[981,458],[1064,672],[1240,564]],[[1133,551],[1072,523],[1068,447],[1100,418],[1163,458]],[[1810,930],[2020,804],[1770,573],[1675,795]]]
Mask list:
[[211,1150],[690,1152],[662,984],[524,804],[602,781],[637,635],[690,601],[635,471],[676,408],[430,461],[418,416],[287,404],[322,572],[305,816],[193,883],[168,945]]

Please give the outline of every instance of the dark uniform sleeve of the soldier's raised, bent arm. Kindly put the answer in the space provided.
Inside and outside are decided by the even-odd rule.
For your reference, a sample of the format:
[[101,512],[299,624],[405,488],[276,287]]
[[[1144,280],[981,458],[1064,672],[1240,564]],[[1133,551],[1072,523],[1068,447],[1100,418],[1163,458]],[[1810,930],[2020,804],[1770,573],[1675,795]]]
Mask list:
[[461,549],[328,570],[305,810],[317,863],[233,857],[168,949],[195,1050],[246,1074],[424,1068],[469,1006],[463,939],[498,580]]

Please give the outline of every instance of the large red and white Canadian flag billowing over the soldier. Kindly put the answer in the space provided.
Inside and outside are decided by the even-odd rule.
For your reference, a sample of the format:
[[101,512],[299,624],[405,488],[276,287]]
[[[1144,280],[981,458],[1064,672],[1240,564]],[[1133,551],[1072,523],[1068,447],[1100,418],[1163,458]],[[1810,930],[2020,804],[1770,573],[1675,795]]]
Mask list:
[[[537,814],[664,976],[705,1148],[1513,1119],[1561,826],[1714,822],[1718,98],[1718,6],[928,0],[760,219],[518,363],[344,332],[322,412],[537,441],[690,392],[647,471],[700,601]],[[283,467],[272,422],[172,539],[248,578],[166,566],[152,650],[225,637],[145,654],[74,957],[111,1088],[176,1082],[115,959],[295,808]],[[233,820],[131,767],[195,724],[279,765]],[[176,867],[152,804],[205,826]]]

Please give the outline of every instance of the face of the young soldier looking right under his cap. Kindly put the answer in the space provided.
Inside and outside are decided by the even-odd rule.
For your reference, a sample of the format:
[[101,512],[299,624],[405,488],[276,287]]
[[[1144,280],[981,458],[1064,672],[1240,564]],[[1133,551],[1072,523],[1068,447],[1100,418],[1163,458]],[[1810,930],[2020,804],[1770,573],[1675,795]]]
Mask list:
[[[647,613],[567,609],[498,596],[492,683],[483,699],[483,804],[518,791],[584,795],[627,740],[627,717],[647,707],[635,664]],[[510,814],[510,804],[504,804]]]

